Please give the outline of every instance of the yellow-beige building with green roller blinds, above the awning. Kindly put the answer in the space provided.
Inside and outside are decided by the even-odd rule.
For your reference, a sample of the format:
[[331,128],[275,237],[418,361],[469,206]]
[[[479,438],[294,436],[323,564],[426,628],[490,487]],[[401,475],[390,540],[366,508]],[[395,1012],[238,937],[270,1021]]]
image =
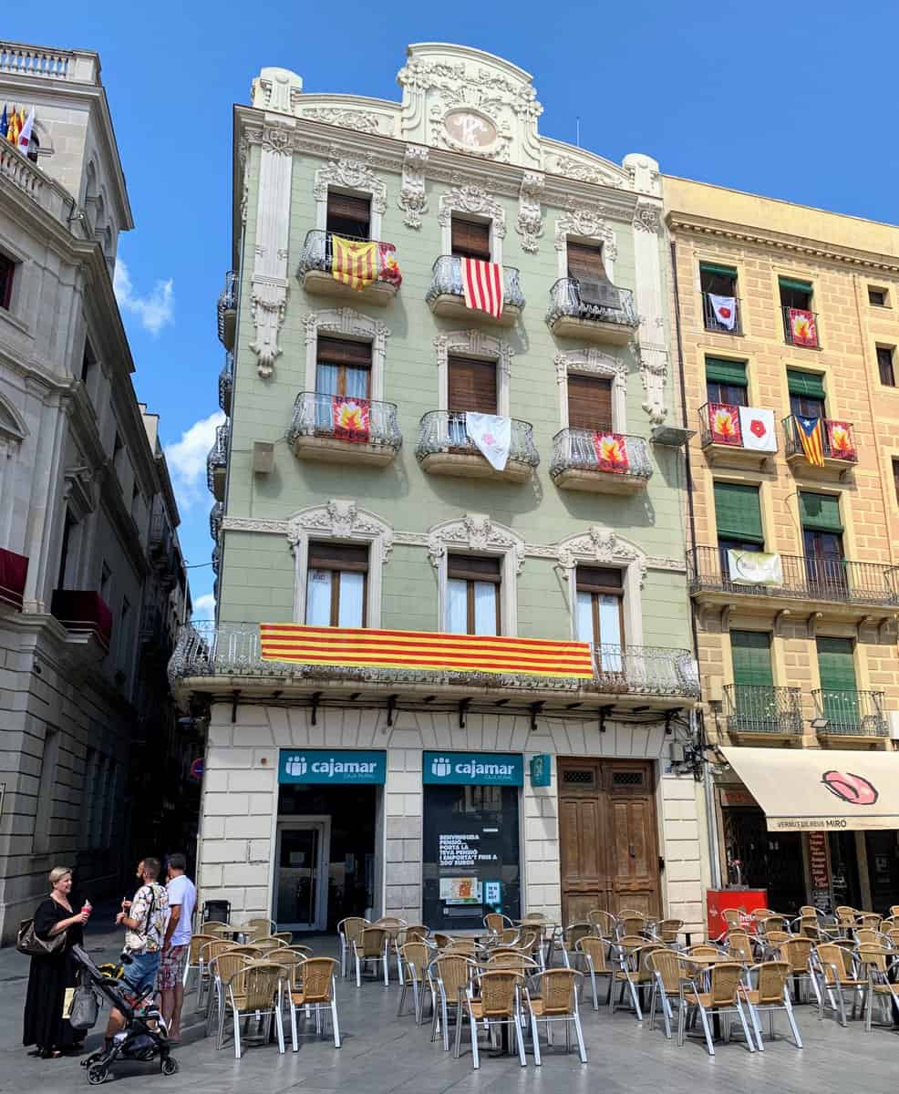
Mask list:
[[[895,830],[806,818],[774,835],[742,780],[747,749],[768,750],[774,778],[783,749],[807,750],[820,787],[813,750],[853,771],[859,750],[895,747],[899,228],[679,178],[664,190],[694,431],[688,581],[707,736],[728,760],[720,869],[739,861],[779,911],[886,909]],[[825,788],[818,821],[832,803]]]

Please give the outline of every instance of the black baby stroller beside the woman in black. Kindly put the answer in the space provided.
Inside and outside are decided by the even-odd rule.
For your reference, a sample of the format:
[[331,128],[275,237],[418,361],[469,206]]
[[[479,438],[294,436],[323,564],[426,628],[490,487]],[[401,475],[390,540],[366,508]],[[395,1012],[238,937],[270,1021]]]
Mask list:
[[171,1055],[165,1023],[152,997],[142,1001],[147,1005],[133,1006],[125,998],[118,980],[97,968],[81,946],[72,946],[72,954],[81,966],[82,984],[86,978],[125,1017],[125,1028],[116,1034],[109,1048],[98,1049],[81,1061],[87,1069],[87,1082],[92,1085],[105,1082],[109,1067],[118,1059],[150,1061],[159,1057],[160,1071],[174,1075],[178,1063]]

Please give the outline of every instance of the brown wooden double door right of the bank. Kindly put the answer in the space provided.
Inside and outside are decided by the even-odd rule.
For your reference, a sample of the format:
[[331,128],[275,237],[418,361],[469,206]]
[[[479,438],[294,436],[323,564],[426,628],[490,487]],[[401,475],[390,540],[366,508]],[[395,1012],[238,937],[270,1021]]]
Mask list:
[[562,918],[593,908],[662,913],[655,765],[559,758]]

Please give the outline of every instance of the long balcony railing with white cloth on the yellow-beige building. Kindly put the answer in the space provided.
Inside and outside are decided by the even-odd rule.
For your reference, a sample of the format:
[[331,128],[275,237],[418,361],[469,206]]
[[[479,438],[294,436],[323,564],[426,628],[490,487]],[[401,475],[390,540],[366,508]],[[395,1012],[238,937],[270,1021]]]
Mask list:
[[[739,552],[743,554],[743,552]],[[726,592],[744,596],[834,601],[843,604],[899,606],[899,567],[851,562],[840,558],[779,555],[783,580],[759,575],[746,580],[732,566],[726,548],[693,547],[687,552],[691,592]]]

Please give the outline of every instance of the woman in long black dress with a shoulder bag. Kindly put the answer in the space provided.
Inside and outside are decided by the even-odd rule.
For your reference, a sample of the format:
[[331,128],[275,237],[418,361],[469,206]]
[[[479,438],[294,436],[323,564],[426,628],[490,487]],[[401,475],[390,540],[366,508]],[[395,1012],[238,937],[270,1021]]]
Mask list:
[[22,1037],[22,1044],[36,1045],[44,1059],[59,1056],[80,1036],[62,1017],[62,1005],[66,989],[73,988],[78,978],[72,946],[81,945],[82,927],[90,915],[87,910],[75,911],[69,901],[72,871],[68,866],[55,866],[49,882],[50,895],[35,910],[34,930],[42,939],[66,931],[66,944],[54,954],[32,957]]

